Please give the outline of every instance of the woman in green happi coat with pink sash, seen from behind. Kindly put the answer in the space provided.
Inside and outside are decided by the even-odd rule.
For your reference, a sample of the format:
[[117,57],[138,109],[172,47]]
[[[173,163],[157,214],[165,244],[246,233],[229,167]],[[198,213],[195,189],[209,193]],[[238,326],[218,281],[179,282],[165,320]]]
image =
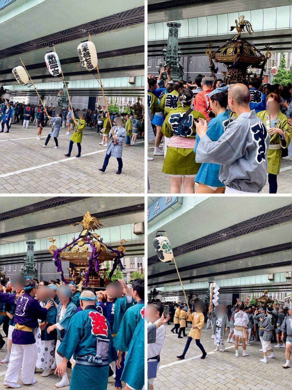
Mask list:
[[180,193],[182,183],[185,193],[195,193],[194,178],[201,167],[193,154],[195,120],[206,118],[191,108],[193,92],[190,89],[182,89],[178,99],[180,105],[169,112],[162,126],[163,135],[170,138],[162,172],[170,177],[171,193]]

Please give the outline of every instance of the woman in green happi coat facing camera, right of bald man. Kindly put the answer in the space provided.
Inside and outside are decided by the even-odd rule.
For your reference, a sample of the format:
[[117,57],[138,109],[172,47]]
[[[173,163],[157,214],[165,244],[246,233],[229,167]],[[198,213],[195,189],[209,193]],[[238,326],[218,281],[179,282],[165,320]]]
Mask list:
[[269,193],[277,192],[277,175],[281,166],[281,148],[287,148],[291,140],[291,128],[288,124],[288,118],[280,110],[280,102],[280,96],[271,93],[267,96],[267,110],[257,113],[257,116],[266,125],[271,137],[267,152]]

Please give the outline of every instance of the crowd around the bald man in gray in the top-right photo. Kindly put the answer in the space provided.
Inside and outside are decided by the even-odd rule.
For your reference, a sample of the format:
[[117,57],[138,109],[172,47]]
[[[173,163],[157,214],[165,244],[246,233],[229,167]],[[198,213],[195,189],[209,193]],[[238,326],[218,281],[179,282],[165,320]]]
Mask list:
[[276,193],[281,159],[292,159],[291,83],[226,85],[202,74],[187,83],[170,74],[148,75],[148,161],[164,156],[170,192],[195,193],[197,183],[196,193],[260,193],[268,177]]

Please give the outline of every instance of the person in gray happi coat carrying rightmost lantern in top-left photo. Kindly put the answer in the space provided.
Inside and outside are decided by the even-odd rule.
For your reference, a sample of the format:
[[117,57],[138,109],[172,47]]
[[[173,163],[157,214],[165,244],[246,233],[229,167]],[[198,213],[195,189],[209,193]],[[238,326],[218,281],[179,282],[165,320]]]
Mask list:
[[122,126],[123,119],[121,117],[116,117],[116,124],[117,126],[113,126],[113,134],[110,132],[111,142],[109,142],[109,146],[106,150],[104,165],[102,165],[102,168],[99,168],[99,170],[101,172],[105,172],[107,164],[109,163],[109,158],[116,157],[118,160],[118,170],[116,174],[120,175],[123,168],[123,161],[121,159],[123,152],[123,142],[126,140],[127,132],[126,129]]

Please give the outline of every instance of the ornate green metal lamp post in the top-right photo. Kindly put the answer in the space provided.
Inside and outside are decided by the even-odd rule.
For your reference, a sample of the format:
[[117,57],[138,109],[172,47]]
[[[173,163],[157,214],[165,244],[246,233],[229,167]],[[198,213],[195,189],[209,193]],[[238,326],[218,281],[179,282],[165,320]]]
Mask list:
[[[168,30],[167,47],[164,46],[162,50],[164,62],[159,65],[159,73],[162,66],[171,67],[171,77],[174,81],[183,79],[183,67],[179,64],[181,59],[181,51],[178,49],[178,29],[181,27],[181,23],[169,22],[166,23]],[[164,73],[163,79],[166,80],[166,74]]]

